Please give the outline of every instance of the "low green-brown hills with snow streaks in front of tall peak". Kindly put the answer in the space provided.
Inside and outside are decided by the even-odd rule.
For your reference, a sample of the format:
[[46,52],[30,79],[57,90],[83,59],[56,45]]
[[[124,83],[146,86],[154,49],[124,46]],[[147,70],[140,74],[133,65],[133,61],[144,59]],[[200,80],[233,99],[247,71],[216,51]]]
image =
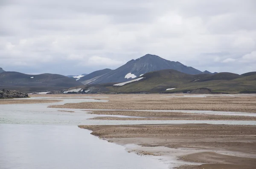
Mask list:
[[[177,70],[158,70],[123,83],[84,85],[88,93],[190,93],[205,89],[212,93],[256,93],[256,73],[186,74]],[[200,90],[201,91],[201,90]]]

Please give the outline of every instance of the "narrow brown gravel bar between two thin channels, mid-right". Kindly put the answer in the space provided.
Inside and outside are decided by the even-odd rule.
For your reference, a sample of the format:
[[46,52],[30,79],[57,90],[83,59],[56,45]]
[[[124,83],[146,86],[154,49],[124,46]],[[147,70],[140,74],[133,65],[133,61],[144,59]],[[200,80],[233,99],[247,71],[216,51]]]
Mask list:
[[[93,110],[90,114],[97,115],[126,115],[129,117],[94,117],[92,120],[249,120],[255,121],[256,117],[238,115],[209,115],[200,113],[181,113],[181,112],[147,112],[147,111],[104,111]],[[143,118],[136,118],[143,117]]]

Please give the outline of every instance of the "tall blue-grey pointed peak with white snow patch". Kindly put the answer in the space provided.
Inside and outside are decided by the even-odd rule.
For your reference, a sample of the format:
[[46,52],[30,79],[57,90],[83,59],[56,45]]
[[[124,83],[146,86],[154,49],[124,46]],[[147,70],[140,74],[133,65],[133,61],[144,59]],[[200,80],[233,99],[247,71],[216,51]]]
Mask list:
[[145,73],[157,70],[173,69],[187,74],[198,74],[202,73],[192,67],[185,66],[180,62],[173,62],[163,59],[157,55],[146,54],[139,59],[132,59],[125,65],[112,70],[111,72],[94,79],[89,84],[104,84],[111,82],[127,82],[131,79],[142,76]]

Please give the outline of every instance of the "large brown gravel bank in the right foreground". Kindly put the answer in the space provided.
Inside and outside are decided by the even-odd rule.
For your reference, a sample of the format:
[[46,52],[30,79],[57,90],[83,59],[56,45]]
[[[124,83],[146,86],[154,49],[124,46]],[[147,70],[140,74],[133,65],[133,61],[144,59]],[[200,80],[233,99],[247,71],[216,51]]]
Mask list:
[[[256,167],[256,126],[157,124],[79,127],[92,130],[91,134],[110,142],[138,144],[145,148],[135,150],[135,152],[174,155],[174,151],[185,148],[188,152],[177,155],[178,159],[207,163],[200,166],[180,166],[180,169],[220,169],[221,167],[224,169],[254,169]],[[165,151],[158,148],[162,146],[166,147]],[[155,150],[148,149],[149,147]],[[192,149],[191,152],[190,149]]]

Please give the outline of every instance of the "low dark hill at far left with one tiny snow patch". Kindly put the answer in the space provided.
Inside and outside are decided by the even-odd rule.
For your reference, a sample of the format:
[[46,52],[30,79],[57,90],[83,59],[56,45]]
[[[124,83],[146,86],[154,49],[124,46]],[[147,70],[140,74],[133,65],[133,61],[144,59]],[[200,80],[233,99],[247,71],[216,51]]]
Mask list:
[[0,89],[15,89],[22,92],[60,90],[82,85],[67,76],[44,73],[29,75],[19,72],[0,73]]

